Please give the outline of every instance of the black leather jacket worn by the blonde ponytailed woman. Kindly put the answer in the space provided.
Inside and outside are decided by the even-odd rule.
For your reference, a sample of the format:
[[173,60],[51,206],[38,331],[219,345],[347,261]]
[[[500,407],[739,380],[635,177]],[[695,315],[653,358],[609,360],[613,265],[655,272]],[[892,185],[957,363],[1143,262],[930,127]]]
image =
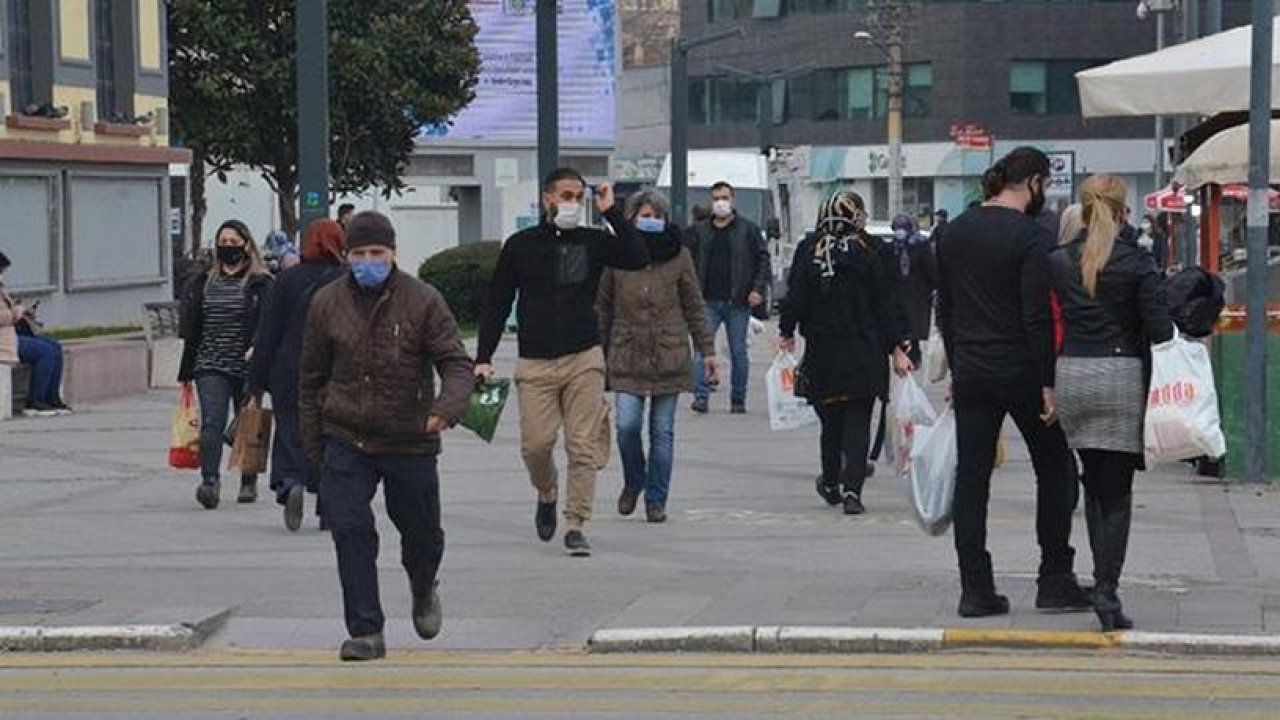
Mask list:
[[1132,227],[1121,231],[1111,259],[1098,273],[1096,297],[1084,291],[1083,251],[1084,234],[1050,255],[1066,329],[1062,355],[1144,357],[1151,345],[1172,337],[1164,278],[1151,254],[1138,246]]

